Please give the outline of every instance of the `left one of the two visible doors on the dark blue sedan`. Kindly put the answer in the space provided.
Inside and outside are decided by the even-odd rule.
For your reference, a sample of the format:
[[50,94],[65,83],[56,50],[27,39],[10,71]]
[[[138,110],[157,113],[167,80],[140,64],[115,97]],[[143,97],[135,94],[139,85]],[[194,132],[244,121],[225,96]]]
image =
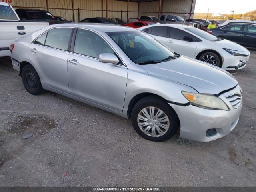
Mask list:
[[230,24],[224,28],[223,37],[227,40],[236,42],[238,44],[244,44],[242,38],[244,34],[244,25],[242,24]]

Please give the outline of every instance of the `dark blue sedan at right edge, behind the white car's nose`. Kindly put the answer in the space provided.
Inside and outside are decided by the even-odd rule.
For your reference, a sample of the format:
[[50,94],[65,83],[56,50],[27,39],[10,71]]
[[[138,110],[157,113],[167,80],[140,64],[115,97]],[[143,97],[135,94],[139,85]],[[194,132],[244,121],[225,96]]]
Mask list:
[[230,23],[207,31],[217,37],[236,42],[246,47],[256,47],[256,25]]

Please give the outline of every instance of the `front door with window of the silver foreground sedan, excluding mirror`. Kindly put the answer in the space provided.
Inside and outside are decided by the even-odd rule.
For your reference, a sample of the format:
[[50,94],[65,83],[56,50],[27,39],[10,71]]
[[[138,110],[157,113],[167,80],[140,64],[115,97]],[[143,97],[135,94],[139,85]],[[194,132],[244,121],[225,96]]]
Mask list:
[[99,34],[90,30],[74,32],[68,56],[69,93],[92,103],[122,112],[127,82],[127,67],[99,62],[99,54],[115,54]]

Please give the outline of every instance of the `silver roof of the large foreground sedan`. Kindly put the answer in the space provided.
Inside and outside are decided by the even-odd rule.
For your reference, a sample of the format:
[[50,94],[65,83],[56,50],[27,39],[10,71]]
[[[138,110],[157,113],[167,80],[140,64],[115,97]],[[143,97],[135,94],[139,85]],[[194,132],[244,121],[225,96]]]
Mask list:
[[122,25],[116,24],[102,24],[102,23],[68,23],[68,24],[55,24],[51,27],[76,27],[92,30],[101,30],[105,33],[107,32],[119,32],[119,31],[137,31],[135,28],[130,28]]

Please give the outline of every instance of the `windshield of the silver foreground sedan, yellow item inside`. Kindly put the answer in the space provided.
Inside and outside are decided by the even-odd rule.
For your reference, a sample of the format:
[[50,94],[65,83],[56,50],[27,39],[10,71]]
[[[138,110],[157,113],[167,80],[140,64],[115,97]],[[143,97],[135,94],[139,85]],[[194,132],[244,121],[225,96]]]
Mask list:
[[168,48],[140,31],[108,32],[112,40],[136,64],[153,64],[177,57]]

